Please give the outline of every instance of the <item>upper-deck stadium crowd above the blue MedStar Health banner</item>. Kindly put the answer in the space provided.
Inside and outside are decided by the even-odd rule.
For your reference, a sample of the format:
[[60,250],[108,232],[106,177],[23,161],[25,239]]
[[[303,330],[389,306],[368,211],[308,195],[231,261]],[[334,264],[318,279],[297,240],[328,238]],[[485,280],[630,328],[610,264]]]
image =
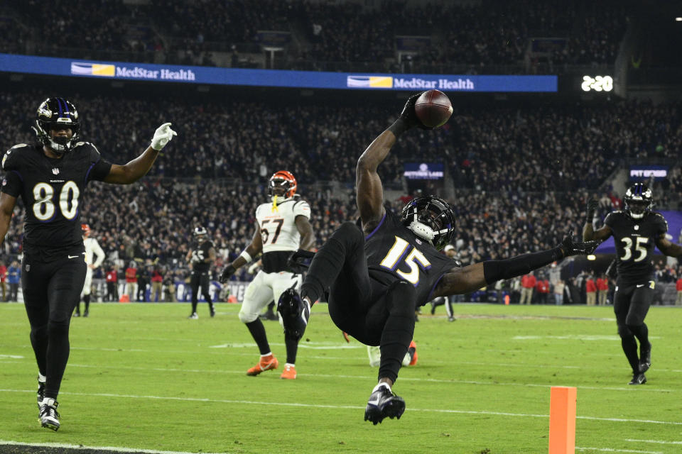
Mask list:
[[[257,49],[259,31],[282,31],[297,35],[290,40],[296,46],[288,49],[291,69],[329,70],[329,63],[367,62],[406,72],[460,71],[462,65],[470,73],[491,72],[499,65],[516,65],[513,71],[519,72],[529,40],[546,36],[559,38],[551,55],[558,71],[565,64],[615,62],[628,10],[622,2],[586,0],[418,6],[391,1],[377,8],[276,0],[49,3],[51,7],[38,0],[18,2],[0,13],[6,25],[0,29],[0,52],[80,58],[128,52],[131,61],[215,65],[201,55],[243,44]],[[400,36],[426,38],[428,45],[402,48],[396,45]],[[31,44],[17,45],[16,37],[29,38]],[[393,64],[396,50],[408,52],[415,65]],[[177,51],[196,60],[177,61]]]

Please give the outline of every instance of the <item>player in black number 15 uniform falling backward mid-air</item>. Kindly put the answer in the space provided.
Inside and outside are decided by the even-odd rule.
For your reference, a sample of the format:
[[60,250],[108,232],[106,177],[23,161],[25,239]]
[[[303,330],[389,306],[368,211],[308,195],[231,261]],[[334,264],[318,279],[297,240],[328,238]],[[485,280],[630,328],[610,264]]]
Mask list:
[[[329,314],[336,326],[362,343],[380,346],[379,383],[364,414],[374,424],[386,417],[399,418],[405,409],[391,386],[412,340],[418,306],[434,297],[472,292],[499,279],[524,275],[567,255],[588,253],[596,245],[574,243],[568,236],[551,250],[458,267],[438,252],[455,231],[455,214],[448,202],[423,196],[409,201],[400,215],[387,211],[377,167],[401,133],[423,127],[414,112],[417,97],[408,99],[398,120],[357,161],[362,226],[343,223],[315,254],[301,296],[291,290],[278,301],[285,330],[302,336],[310,305],[328,292]],[[298,257],[297,253],[293,260]]]

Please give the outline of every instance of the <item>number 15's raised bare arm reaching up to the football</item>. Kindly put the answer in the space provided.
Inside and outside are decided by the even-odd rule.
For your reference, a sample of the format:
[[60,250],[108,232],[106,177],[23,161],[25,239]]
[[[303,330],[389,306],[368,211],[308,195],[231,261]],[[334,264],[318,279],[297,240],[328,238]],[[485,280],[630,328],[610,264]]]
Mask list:
[[395,123],[375,138],[357,160],[355,170],[357,209],[362,218],[364,231],[372,231],[384,216],[384,188],[381,186],[377,167],[389,155],[389,151],[401,133],[421,124],[414,113],[414,103],[420,94],[414,94],[408,98]]

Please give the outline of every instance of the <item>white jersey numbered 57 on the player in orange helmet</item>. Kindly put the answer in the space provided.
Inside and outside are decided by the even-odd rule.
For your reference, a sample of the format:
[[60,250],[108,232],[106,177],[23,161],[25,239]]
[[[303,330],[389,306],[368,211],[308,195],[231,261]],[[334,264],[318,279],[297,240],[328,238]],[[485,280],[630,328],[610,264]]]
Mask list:
[[310,205],[298,196],[277,204],[261,204],[256,208],[256,221],[263,240],[264,272],[288,270],[286,260],[301,243],[301,233],[296,227],[297,216],[310,218]]

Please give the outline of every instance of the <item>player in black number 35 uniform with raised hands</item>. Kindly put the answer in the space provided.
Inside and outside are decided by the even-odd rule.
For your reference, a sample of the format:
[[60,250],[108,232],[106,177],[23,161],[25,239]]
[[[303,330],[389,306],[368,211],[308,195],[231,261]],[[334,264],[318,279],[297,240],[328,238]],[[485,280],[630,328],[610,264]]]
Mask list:
[[[588,201],[587,220],[583,226],[583,240],[603,241],[613,236],[616,243],[616,290],[613,310],[625,357],[632,367],[629,384],[644,384],[644,372],[651,367],[649,328],[644,323],[646,312],[654,298],[654,265],[651,255],[654,246],[670,257],[681,258],[682,247],[666,239],[668,223],[661,214],[651,211],[654,206],[651,189],[635,183],[623,197],[624,211],[612,211],[597,231],[592,218],[598,202]],[[639,340],[639,357],[637,341]]]

